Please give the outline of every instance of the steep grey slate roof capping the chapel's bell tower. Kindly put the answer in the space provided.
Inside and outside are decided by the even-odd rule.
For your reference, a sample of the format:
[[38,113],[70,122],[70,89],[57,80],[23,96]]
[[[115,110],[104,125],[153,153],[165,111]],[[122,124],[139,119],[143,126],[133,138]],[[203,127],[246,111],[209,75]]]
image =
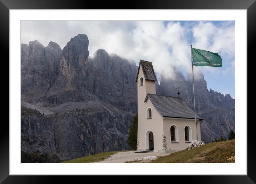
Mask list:
[[[142,71],[145,76],[145,79],[157,81],[157,77],[155,75],[152,62],[140,60],[139,67],[142,67]],[[138,81],[138,75],[139,75],[139,68],[138,68],[138,73],[137,73],[137,77],[136,77],[136,82]]]

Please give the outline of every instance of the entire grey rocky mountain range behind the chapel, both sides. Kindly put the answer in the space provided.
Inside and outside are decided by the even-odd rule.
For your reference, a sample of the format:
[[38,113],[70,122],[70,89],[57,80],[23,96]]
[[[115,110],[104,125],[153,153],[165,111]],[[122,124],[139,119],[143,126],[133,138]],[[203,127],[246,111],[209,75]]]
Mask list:
[[[92,57],[89,39],[79,34],[61,50],[54,42],[21,44],[21,153],[37,155],[46,163],[90,153],[128,149],[125,143],[132,116],[137,113],[138,66],[105,50]],[[193,109],[191,80],[178,71],[161,76],[158,94],[181,97]],[[189,76],[187,78],[190,78]],[[211,142],[235,129],[235,99],[208,91],[206,81],[195,81],[197,111],[204,119],[202,140]],[[24,155],[25,154],[25,155]],[[34,157],[34,156],[33,156]]]

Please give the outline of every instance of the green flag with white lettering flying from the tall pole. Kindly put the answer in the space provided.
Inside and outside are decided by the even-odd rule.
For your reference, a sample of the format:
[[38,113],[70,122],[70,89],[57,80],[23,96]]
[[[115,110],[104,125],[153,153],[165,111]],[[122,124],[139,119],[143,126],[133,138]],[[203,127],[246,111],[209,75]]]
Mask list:
[[200,50],[192,47],[194,66],[222,66],[221,56],[218,53]]

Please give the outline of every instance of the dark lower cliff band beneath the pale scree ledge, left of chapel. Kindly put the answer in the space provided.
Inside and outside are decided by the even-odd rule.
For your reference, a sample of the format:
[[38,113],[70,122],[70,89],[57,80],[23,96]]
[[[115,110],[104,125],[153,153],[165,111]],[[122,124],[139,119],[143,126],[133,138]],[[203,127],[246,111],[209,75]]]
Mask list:
[[48,160],[56,163],[89,155],[89,145],[90,154],[128,149],[131,117],[92,107],[46,116],[21,107],[21,150],[48,154]]

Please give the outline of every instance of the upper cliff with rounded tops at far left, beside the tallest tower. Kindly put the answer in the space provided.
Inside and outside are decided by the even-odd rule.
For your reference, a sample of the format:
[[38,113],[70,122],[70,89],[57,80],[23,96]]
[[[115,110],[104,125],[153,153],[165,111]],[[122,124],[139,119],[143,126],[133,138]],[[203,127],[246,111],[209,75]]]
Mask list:
[[39,41],[21,44],[21,100],[43,101],[56,80],[61,48],[50,42],[47,47]]

